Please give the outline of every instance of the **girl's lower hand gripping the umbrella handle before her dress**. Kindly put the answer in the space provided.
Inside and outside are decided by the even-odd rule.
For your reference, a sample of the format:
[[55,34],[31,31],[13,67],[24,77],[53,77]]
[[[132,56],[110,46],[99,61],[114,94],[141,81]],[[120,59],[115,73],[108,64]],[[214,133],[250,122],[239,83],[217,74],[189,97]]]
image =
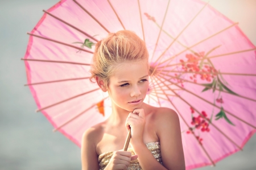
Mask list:
[[128,151],[115,151],[113,152],[113,156],[109,160],[109,163],[106,166],[105,170],[126,170],[130,165],[130,161],[135,160],[137,158],[138,155],[131,156],[131,152]]

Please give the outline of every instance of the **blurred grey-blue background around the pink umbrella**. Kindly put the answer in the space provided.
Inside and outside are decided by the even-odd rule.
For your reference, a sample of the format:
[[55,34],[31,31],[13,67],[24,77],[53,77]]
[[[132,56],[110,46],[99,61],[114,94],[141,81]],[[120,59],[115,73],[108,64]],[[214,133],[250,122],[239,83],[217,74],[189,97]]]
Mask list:
[[[0,169],[81,169],[80,148],[59,132],[41,113],[27,82],[24,62],[28,35],[42,17],[42,10],[58,0],[0,0]],[[205,1],[208,2],[208,1]],[[239,22],[256,45],[256,0],[210,0],[210,5]],[[256,69],[256,68],[255,68]],[[256,135],[243,151],[217,166],[200,170],[256,169]]]

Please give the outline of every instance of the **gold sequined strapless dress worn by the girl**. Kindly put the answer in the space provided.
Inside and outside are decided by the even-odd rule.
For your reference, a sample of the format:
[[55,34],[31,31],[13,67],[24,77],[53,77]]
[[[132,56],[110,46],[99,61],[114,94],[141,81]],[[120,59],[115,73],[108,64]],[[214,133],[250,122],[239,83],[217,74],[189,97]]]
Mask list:
[[[160,142],[150,142],[146,144],[148,150],[151,151],[152,155],[155,157],[155,159],[162,164],[162,156],[161,156],[161,150],[160,150]],[[134,155],[134,151],[132,148],[128,148],[127,151],[131,151],[131,155]],[[111,159],[113,155],[113,152],[105,152],[98,156],[98,163],[100,170],[103,170],[106,168],[106,165],[108,165],[109,160]],[[132,160],[130,163],[130,166],[128,170],[141,170],[141,165],[139,165],[139,161]]]

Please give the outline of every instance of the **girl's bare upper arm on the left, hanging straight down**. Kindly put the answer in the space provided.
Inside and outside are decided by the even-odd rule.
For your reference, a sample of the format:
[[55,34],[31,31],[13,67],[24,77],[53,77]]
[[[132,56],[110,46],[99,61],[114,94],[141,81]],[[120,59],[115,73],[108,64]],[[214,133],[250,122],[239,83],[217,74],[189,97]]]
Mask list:
[[98,155],[96,153],[95,143],[92,139],[93,129],[89,128],[82,135],[81,143],[81,162],[82,170],[98,170]]

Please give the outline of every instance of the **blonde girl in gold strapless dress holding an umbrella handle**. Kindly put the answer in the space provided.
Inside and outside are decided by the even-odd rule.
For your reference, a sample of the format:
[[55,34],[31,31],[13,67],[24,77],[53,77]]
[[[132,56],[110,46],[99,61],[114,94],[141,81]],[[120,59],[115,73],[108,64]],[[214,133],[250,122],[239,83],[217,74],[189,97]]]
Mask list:
[[[148,91],[148,52],[131,31],[96,44],[91,68],[112,101],[110,117],[84,132],[82,170],[185,169],[179,117],[174,110],[143,102]],[[128,151],[122,151],[131,128]]]

